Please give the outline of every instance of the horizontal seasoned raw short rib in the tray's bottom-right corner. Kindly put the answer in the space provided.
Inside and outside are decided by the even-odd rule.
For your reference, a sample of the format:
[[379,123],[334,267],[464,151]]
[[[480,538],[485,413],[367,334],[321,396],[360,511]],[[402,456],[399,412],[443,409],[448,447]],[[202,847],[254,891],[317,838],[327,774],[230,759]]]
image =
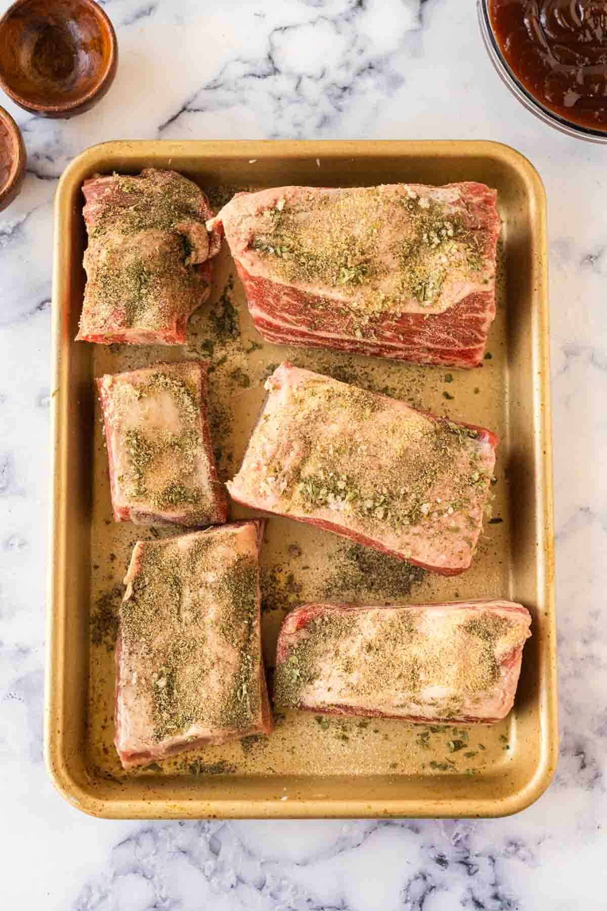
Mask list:
[[410,722],[497,722],[511,711],[530,625],[527,609],[503,600],[306,604],[288,614],[278,636],[275,704]]

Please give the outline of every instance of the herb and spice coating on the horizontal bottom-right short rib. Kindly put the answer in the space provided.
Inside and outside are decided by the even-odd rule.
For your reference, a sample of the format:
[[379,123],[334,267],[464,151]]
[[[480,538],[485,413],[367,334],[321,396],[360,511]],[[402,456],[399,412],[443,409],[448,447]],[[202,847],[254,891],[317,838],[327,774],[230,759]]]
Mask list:
[[[277,704],[320,711],[341,704],[386,706],[382,711],[400,710],[403,717],[435,713],[457,718],[478,697],[491,693],[500,672],[498,639],[506,650],[521,640],[516,619],[482,609],[474,615],[459,617],[445,632],[440,622],[429,628],[428,612],[419,609],[304,608],[297,631],[282,641]],[[430,699],[427,693],[436,686],[452,695]],[[382,694],[382,687],[389,695]],[[430,725],[417,733],[417,745],[428,749],[431,736],[443,738],[445,752],[469,748],[465,728]]]

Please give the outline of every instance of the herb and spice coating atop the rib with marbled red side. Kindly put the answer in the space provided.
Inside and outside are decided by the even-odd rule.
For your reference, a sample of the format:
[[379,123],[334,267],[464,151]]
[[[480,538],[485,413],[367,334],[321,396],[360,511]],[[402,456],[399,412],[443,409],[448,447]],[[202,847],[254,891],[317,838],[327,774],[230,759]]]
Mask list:
[[[394,239],[388,253],[387,238]],[[281,198],[260,213],[249,244],[285,283],[339,290],[360,338],[373,336],[375,315],[401,311],[404,302],[440,309],[448,275],[487,266],[484,238],[467,216],[410,187]],[[387,277],[388,294],[379,292]]]

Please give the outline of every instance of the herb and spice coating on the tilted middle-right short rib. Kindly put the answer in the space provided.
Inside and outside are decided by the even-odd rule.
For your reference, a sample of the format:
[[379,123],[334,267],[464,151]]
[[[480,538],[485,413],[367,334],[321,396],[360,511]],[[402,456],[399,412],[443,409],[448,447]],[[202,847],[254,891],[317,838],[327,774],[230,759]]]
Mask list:
[[[331,429],[336,415],[339,434]],[[252,496],[277,496],[277,511],[328,510],[339,525],[394,541],[392,549],[404,558],[412,555],[413,529],[420,526],[424,536],[454,547],[463,540],[471,549],[473,539],[462,537],[461,526],[469,522],[478,532],[490,478],[483,467],[489,455],[478,437],[474,428],[401,413],[381,395],[309,374],[262,416],[248,450],[253,459],[261,447],[258,468],[249,480],[245,463],[242,476]],[[280,442],[287,438],[298,441],[297,457]],[[369,471],[369,463],[377,470]]]

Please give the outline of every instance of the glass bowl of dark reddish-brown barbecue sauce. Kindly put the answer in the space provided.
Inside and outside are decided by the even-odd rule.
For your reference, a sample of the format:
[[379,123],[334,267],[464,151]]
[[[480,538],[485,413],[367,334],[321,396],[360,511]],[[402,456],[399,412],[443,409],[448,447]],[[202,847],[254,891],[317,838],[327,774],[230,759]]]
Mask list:
[[478,0],[493,66],[569,136],[607,142],[607,0]]

